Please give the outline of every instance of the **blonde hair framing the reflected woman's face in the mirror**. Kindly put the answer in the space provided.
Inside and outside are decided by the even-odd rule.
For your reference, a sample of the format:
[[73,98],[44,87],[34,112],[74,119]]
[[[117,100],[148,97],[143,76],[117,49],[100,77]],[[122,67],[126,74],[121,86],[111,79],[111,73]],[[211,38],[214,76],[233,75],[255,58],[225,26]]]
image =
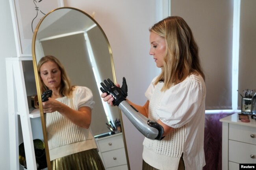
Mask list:
[[61,62],[54,56],[51,55],[47,55],[45,57],[42,57],[38,64],[37,64],[37,69],[38,69],[38,76],[40,77],[39,79],[39,84],[40,84],[40,89],[41,91],[45,91],[48,90],[48,87],[45,85],[45,83],[42,81],[41,76],[40,76],[40,69],[41,66],[48,62],[48,61],[52,61],[55,62],[57,64],[57,66],[59,67],[60,71],[61,71],[61,87],[59,89],[59,94],[61,96],[67,96],[67,97],[71,97],[72,96],[72,91],[74,90],[74,86],[71,86],[69,77],[64,69],[64,66],[61,64]]

